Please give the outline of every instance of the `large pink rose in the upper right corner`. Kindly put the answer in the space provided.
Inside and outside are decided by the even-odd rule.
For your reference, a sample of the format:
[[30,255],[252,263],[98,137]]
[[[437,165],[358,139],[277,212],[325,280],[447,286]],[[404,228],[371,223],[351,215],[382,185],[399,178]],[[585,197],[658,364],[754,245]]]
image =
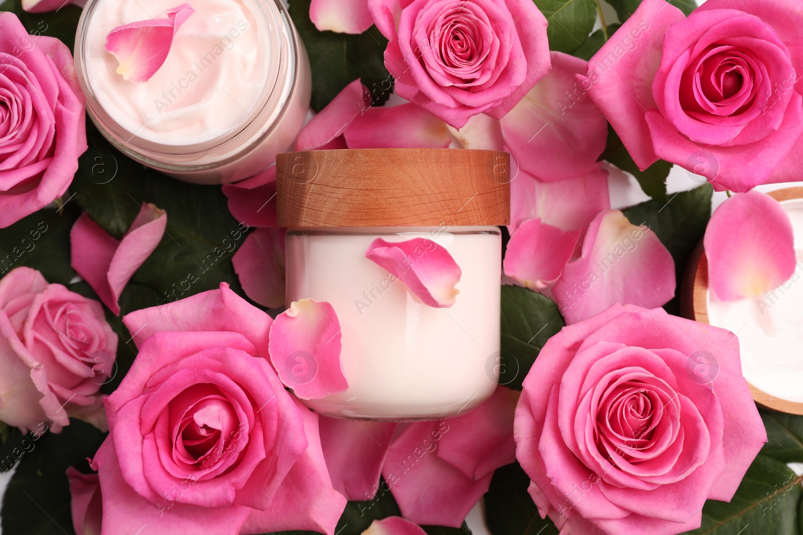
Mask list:
[[639,168],[662,158],[720,191],[799,180],[800,26],[797,0],[709,0],[688,18],[645,0],[581,84]]

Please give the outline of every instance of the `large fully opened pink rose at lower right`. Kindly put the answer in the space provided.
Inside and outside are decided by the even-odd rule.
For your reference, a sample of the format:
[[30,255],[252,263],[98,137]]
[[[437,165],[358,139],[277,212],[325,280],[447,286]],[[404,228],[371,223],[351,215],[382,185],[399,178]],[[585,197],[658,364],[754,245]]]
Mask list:
[[549,339],[514,429],[530,495],[565,533],[699,528],[767,441],[736,336],[632,305]]

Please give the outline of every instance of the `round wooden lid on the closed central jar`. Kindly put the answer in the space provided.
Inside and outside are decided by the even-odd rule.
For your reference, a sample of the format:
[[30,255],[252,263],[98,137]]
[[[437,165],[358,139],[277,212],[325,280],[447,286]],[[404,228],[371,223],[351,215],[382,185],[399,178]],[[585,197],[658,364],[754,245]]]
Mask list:
[[510,155],[358,148],[276,157],[281,227],[508,225]]

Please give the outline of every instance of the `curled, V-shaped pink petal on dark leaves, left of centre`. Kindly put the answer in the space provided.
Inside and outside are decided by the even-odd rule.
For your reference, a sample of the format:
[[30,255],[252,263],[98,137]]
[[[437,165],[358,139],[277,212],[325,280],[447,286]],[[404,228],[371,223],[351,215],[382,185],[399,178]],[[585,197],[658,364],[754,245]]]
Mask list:
[[86,213],[72,226],[72,268],[114,314],[120,315],[120,294],[134,272],[159,245],[165,225],[167,213],[164,210],[142,203],[140,213],[120,241],[109,236]]

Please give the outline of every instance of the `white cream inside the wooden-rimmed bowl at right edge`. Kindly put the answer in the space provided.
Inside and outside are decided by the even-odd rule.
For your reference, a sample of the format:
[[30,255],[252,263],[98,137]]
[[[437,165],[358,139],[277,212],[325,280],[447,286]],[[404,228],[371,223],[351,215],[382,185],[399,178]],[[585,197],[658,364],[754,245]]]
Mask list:
[[744,378],[769,395],[803,402],[803,200],[782,201],[795,236],[797,269],[775,290],[736,302],[708,292],[708,321],[739,337]]

